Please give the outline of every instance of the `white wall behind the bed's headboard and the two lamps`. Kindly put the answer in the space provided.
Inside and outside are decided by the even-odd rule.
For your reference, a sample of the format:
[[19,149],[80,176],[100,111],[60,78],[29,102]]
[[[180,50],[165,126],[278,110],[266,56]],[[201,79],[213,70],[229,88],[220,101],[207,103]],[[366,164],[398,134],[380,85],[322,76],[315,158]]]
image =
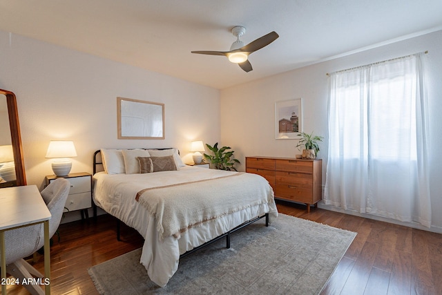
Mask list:
[[[51,175],[50,140],[73,140],[72,172],[92,172],[100,148],[177,147],[217,142],[220,91],[42,41],[0,32],[0,88],[17,95],[28,184]],[[117,97],[164,103],[164,140],[118,140]],[[202,111],[200,111],[202,110]]]

